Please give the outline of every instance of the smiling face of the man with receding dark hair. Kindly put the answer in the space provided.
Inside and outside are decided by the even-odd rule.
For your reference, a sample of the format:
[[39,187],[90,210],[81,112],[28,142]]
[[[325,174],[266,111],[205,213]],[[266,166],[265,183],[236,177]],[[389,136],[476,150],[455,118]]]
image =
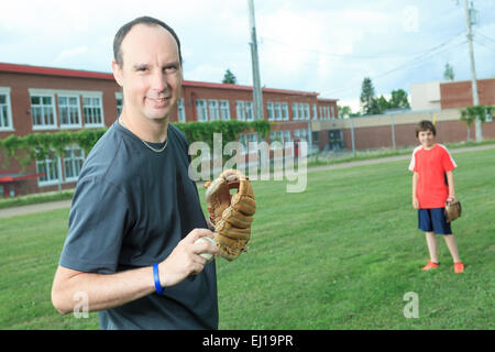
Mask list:
[[177,43],[158,25],[136,24],[121,44],[122,67],[112,63],[123,87],[124,113],[132,118],[168,118],[180,96],[182,68]]

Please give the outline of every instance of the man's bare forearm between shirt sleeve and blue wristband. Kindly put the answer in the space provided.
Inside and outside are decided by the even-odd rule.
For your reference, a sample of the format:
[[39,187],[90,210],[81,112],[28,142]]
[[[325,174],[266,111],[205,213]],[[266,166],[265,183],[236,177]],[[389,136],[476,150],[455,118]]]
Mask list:
[[155,290],[153,268],[140,267],[116,274],[81,273],[59,266],[52,288],[52,301],[61,314],[80,305],[87,297],[88,311],[118,307]]

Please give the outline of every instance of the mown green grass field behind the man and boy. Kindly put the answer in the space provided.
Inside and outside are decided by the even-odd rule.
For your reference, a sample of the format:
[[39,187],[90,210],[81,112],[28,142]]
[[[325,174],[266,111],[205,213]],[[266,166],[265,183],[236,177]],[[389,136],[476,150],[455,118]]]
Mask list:
[[[420,270],[408,161],[310,173],[300,194],[255,182],[250,251],[217,261],[220,329],[494,329],[495,152],[453,156],[463,274],[441,238],[440,267]],[[0,220],[0,329],[98,329],[97,314],[61,316],[50,300],[67,218]],[[409,292],[419,318],[404,316]]]

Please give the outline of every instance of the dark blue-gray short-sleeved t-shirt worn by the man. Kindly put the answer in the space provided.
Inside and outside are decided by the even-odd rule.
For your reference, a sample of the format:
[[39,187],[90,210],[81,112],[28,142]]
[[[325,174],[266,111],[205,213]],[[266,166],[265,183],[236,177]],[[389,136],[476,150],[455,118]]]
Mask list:
[[[155,153],[116,121],[95,144],[77,182],[62,266],[100,274],[151,266],[193,229],[207,228],[186,136],[168,124],[167,140]],[[162,296],[98,316],[101,329],[218,329],[215,261]]]

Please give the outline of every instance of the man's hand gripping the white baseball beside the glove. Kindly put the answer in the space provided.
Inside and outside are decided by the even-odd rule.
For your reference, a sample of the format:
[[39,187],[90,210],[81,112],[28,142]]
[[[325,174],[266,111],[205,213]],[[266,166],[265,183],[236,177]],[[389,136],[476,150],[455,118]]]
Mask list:
[[199,238],[213,239],[213,232],[207,229],[194,229],[172,251],[165,261],[158,264],[160,282],[163,287],[174,286],[189,275],[202,272],[207,263],[201,253],[220,256],[220,250],[210,241],[196,241]]

